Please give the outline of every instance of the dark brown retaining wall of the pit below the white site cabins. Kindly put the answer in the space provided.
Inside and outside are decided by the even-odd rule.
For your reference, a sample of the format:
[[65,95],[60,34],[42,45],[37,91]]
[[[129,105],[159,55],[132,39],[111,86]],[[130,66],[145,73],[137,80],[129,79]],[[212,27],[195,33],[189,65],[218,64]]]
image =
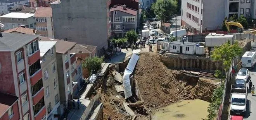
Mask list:
[[222,62],[220,61],[192,55],[175,55],[167,53],[166,55],[161,56],[161,61],[169,69],[195,69],[206,70],[210,72],[223,69]]

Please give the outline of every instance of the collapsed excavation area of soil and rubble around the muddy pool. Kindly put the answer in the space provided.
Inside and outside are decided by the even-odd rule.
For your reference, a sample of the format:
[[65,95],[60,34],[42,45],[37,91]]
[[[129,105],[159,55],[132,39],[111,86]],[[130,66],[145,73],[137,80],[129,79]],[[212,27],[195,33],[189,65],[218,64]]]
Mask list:
[[[132,61],[135,55],[137,62]],[[126,58],[123,63],[105,65],[104,72],[87,85],[81,95],[88,101],[85,112],[81,113],[82,118],[152,120],[156,111],[180,101],[201,99],[210,102],[214,89],[220,84],[212,73],[168,69],[162,62],[164,55],[157,52],[135,55]],[[129,68],[131,64],[133,70]],[[128,98],[127,82],[124,80],[126,70],[131,70],[128,74],[131,96]],[[177,113],[173,116],[181,118],[186,115]]]

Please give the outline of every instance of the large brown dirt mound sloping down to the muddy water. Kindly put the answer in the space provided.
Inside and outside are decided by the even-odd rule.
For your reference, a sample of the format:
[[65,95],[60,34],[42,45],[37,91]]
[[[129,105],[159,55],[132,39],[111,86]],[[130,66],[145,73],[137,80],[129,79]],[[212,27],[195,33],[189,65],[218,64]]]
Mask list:
[[141,53],[135,71],[144,105],[159,108],[182,99],[209,101],[216,86],[198,77],[168,69],[155,53]]

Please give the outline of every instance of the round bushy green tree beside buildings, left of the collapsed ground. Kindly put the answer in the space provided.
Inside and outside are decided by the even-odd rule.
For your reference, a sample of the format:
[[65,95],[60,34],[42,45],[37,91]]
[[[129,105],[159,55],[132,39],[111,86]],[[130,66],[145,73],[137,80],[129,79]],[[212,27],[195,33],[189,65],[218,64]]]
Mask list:
[[89,57],[83,61],[82,66],[83,68],[87,68],[90,73],[96,74],[101,69],[103,60],[104,57]]

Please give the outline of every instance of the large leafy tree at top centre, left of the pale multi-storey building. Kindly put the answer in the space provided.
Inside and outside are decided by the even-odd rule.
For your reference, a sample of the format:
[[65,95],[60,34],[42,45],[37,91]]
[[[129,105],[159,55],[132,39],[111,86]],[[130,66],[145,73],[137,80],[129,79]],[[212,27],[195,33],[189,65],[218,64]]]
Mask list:
[[170,16],[177,13],[177,9],[177,0],[157,0],[151,6],[158,19],[164,22],[169,21]]

